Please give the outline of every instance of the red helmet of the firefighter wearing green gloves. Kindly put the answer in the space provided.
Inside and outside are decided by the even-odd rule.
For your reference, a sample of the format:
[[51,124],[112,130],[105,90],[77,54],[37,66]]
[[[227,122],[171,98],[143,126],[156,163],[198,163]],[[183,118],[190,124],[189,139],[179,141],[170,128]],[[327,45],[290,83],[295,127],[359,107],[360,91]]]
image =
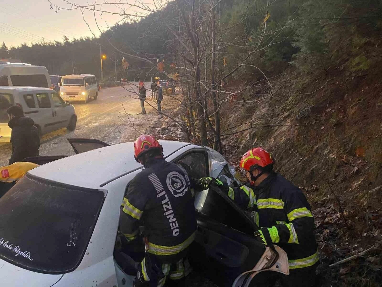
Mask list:
[[244,153],[240,160],[240,167],[244,170],[253,171],[258,167],[265,168],[274,163],[275,161],[269,152],[262,147],[256,147]]

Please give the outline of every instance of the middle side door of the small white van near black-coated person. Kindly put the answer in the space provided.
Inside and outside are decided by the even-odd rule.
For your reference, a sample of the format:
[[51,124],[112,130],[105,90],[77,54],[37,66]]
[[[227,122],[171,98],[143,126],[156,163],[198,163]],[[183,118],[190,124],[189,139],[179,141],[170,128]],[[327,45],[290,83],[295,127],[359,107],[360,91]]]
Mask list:
[[50,101],[50,95],[48,92],[36,93],[37,104],[39,107],[39,122],[41,131],[46,134],[55,130],[55,113]]

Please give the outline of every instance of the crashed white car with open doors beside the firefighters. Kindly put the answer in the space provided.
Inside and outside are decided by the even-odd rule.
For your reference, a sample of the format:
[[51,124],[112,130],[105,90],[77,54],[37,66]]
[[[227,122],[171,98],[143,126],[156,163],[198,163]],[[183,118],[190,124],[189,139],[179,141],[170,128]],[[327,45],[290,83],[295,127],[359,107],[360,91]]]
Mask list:
[[[133,143],[70,142],[79,154],[29,171],[0,199],[1,286],[132,286],[136,271],[126,268],[131,258],[117,255],[119,206],[142,169]],[[185,167],[193,180],[217,176],[207,148],[160,143],[167,161]],[[194,270],[221,287],[248,286],[264,270],[289,273],[285,252],[259,243],[253,236],[257,226],[227,195],[199,185],[195,191],[198,228],[189,258]]]

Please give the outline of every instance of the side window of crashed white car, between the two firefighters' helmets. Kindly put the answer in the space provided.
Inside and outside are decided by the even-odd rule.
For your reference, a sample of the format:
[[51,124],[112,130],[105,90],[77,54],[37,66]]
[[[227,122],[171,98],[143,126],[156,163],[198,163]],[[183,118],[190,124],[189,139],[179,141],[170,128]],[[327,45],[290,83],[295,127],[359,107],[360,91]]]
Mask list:
[[194,179],[209,176],[208,155],[204,152],[191,152],[176,161],[183,166],[189,177]]

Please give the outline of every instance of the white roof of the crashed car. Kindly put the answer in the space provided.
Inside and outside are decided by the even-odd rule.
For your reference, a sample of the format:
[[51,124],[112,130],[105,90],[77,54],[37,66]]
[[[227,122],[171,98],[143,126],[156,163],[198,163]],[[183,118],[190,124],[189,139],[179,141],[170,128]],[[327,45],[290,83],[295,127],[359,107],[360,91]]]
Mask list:
[[[165,157],[190,145],[187,142],[160,140]],[[97,148],[71,157],[52,161],[29,171],[39,178],[59,183],[100,188],[100,186],[122,174],[142,168],[134,159],[134,143],[125,142]]]

